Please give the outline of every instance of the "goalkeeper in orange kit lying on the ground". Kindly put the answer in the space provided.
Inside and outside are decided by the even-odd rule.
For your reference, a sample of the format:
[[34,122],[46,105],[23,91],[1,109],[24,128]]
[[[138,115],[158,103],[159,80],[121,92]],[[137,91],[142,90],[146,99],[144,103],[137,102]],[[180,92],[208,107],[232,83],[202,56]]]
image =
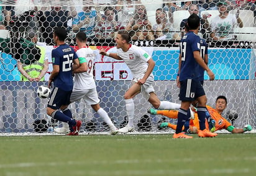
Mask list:
[[[216,108],[212,108],[206,106],[211,117],[206,120],[206,128],[208,128],[211,132],[225,129],[231,133],[244,133],[245,131],[251,131],[252,126],[245,125],[244,128],[235,128],[234,126],[229,123],[224,117],[222,117],[221,113],[227,107],[227,99],[224,96],[219,96],[216,99]],[[164,115],[169,118],[178,118],[178,110],[154,110],[150,108],[149,113],[151,114],[158,114]],[[165,128],[169,127],[173,130],[176,130],[176,125],[171,123],[162,122],[158,125],[158,128]],[[183,127],[184,128],[184,127]],[[197,133],[199,129],[199,121],[198,121],[198,114],[194,112],[194,119],[190,119],[190,133]]]

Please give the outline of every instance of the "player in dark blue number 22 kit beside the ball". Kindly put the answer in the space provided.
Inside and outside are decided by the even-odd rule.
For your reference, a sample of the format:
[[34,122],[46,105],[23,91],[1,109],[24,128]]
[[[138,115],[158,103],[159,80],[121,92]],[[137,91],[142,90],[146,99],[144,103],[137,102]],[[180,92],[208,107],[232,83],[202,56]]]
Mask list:
[[81,121],[72,118],[68,109],[70,95],[73,89],[72,70],[80,66],[78,56],[73,48],[65,44],[66,30],[57,28],[53,32],[53,40],[57,48],[52,50],[53,71],[49,77],[48,87],[53,90],[47,105],[47,115],[59,121],[67,122],[70,127],[68,135],[78,135]]

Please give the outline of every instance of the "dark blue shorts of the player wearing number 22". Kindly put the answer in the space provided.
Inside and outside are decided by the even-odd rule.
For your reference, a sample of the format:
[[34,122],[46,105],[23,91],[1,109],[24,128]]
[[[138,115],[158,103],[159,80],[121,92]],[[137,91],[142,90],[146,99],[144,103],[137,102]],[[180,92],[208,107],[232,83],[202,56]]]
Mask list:
[[58,87],[54,87],[50,94],[47,107],[57,110],[62,105],[69,105],[71,93],[72,90],[65,91]]

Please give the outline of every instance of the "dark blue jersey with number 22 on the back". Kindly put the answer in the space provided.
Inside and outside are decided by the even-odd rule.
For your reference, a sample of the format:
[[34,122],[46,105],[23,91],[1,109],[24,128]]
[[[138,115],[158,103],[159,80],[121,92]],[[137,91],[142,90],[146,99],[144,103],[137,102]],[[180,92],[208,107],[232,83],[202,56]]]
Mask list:
[[64,44],[52,50],[53,65],[60,66],[60,72],[54,77],[54,86],[62,90],[73,89],[72,63],[73,59],[78,59],[75,51],[70,46]]

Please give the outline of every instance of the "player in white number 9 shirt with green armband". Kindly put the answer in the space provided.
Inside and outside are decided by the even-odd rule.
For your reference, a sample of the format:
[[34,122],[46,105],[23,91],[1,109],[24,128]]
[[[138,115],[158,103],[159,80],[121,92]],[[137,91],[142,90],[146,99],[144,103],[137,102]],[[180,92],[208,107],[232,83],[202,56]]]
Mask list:
[[[75,102],[77,100],[85,100],[88,105],[91,105],[93,110],[95,110],[103,121],[109,126],[110,134],[116,134],[117,128],[112,123],[111,119],[107,115],[107,112],[99,106],[99,98],[96,90],[96,84],[93,78],[93,63],[95,55],[93,50],[86,45],[86,33],[78,32],[76,34],[76,44],[79,50],[76,51],[76,55],[80,61],[80,67],[73,70],[75,73],[74,77],[74,87],[70,96],[70,102]],[[81,70],[87,68],[86,72],[81,73]],[[58,130],[60,131],[60,130]]]

